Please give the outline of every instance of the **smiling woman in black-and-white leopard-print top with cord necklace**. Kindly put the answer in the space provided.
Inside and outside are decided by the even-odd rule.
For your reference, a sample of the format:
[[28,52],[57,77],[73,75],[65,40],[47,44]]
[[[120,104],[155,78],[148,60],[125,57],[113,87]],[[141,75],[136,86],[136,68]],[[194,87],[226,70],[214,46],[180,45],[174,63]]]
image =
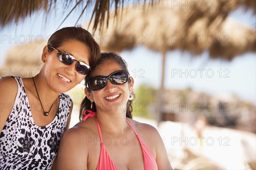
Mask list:
[[88,31],[66,27],[49,38],[38,75],[0,79],[1,170],[54,167],[73,107],[63,93],[78,85],[99,57],[99,45]]

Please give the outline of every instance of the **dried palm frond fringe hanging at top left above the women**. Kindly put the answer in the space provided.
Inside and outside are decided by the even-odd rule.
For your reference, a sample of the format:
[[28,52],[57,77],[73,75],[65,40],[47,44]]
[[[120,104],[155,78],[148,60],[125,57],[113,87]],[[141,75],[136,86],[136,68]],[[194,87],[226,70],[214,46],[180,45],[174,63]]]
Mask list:
[[[56,9],[62,10],[63,13],[70,10],[66,16],[64,15],[65,18],[62,23],[72,12],[75,10],[79,11],[80,15],[77,17],[78,22],[85,10],[92,9],[90,21],[94,20],[93,30],[95,31],[98,25],[100,25],[99,29],[105,28],[104,21],[109,20],[111,7],[114,6],[115,14],[117,14],[117,9],[123,6],[124,1],[125,0],[76,0],[74,3],[74,0],[1,0],[0,27],[3,28],[12,23],[18,24],[26,17],[31,17],[36,11],[43,10],[45,13],[51,14],[51,11]],[[127,3],[128,2],[129,1],[127,1]],[[60,7],[61,5],[63,7]],[[60,23],[59,26],[61,26],[62,23]],[[108,22],[106,27],[108,27]]]

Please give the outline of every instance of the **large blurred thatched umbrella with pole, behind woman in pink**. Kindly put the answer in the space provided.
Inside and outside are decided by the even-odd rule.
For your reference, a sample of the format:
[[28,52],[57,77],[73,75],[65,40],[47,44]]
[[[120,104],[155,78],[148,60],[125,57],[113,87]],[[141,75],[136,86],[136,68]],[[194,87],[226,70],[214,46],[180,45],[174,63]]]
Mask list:
[[[217,1],[213,2],[213,5],[217,5]],[[233,6],[242,6],[240,1],[228,2],[232,2]],[[103,34],[102,31],[96,31],[95,38],[102,51],[120,52],[136,45],[145,45],[163,54],[162,81],[158,97],[160,105],[167,51],[180,49],[195,55],[209,51],[211,58],[225,60],[256,51],[256,30],[227,18],[227,14],[234,7],[230,6],[224,12],[224,7],[213,8],[211,11],[205,1],[201,6],[202,8],[195,9],[174,8],[173,1],[158,2],[152,7],[147,6],[147,10],[134,10],[135,6],[130,6],[122,13],[119,12],[118,23],[112,17],[115,14],[110,14],[109,26],[113,25]],[[160,110],[160,106],[157,110]],[[159,115],[159,121],[161,117]]]

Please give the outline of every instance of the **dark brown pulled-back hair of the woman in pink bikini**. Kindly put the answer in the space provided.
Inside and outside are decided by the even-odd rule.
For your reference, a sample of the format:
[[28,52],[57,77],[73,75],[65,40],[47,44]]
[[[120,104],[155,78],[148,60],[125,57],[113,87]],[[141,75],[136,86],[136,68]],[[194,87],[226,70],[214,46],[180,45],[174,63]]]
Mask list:
[[[128,73],[128,75],[130,75],[128,68],[127,68],[127,63],[125,62],[125,60],[122,59],[122,57],[119,54],[116,54],[114,52],[101,53],[101,57],[100,57],[97,65],[102,64],[103,62],[108,61],[108,60],[113,60],[113,61],[117,62],[120,65],[120,67],[122,68],[122,70],[126,71]],[[91,77],[92,77],[92,71],[90,71],[86,75],[86,77],[84,79],[85,85],[87,84],[88,79],[90,79]],[[130,83],[130,82],[131,82],[131,79],[128,79],[128,83]],[[91,92],[90,88],[87,88],[87,91]],[[134,94],[132,94],[132,95],[133,95],[133,99],[134,99],[135,95]],[[132,119],[132,115],[131,115],[132,102],[133,102],[133,100],[128,100],[127,105],[126,105],[126,117],[131,118],[131,119]],[[95,103],[93,102],[93,107],[91,108],[91,101],[86,96],[84,97],[83,101],[81,102],[80,113],[79,113],[80,120],[84,118],[85,110],[91,110],[91,111],[96,112]]]

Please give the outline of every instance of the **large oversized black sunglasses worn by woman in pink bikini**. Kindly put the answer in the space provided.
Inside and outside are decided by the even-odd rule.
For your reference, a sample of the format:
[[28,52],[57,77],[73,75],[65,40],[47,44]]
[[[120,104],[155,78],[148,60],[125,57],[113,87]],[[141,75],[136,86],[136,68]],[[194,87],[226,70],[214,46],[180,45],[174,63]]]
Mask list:
[[98,91],[106,87],[108,79],[113,85],[122,85],[128,81],[128,78],[129,75],[126,71],[115,71],[109,76],[91,77],[87,82],[87,88],[90,88],[92,91]]

